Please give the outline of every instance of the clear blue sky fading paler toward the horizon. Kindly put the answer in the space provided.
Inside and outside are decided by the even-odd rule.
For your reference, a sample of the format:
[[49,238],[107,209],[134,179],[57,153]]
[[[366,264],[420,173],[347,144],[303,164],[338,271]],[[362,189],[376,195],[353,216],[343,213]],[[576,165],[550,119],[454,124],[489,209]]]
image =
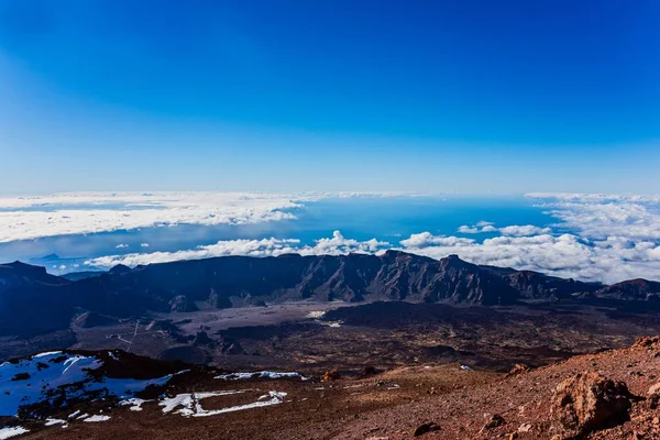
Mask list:
[[660,2],[0,1],[0,193],[660,188]]

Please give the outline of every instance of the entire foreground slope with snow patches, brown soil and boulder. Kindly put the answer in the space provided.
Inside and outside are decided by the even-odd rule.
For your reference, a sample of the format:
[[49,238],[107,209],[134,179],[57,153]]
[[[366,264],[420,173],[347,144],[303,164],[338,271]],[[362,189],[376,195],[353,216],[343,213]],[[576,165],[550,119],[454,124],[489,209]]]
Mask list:
[[[80,376],[85,367],[57,370],[79,362],[90,374]],[[38,363],[47,365],[40,373],[33,369]],[[31,394],[18,417],[3,417],[3,438],[660,438],[660,337],[503,374],[459,364],[232,374],[123,352],[45,353],[3,364],[0,372],[8,367],[13,376],[0,376],[9,396],[0,409],[20,402],[13,393],[28,393],[21,382],[38,374],[47,377],[50,402],[38,404]],[[32,369],[33,376],[18,367]],[[67,374],[80,385],[67,385]],[[57,399],[67,393],[66,403]]]

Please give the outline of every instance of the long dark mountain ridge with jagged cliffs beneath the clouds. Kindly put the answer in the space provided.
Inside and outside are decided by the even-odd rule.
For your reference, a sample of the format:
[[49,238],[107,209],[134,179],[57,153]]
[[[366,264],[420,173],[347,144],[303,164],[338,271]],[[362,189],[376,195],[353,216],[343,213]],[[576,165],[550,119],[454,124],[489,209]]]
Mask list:
[[123,318],[302,299],[494,306],[585,296],[646,300],[660,292],[660,283],[654,282],[604,286],[479,266],[457,255],[438,261],[398,251],[377,256],[228,256],[117,266],[98,276],[70,278],[19,262],[0,265],[0,334],[64,329],[84,311]]

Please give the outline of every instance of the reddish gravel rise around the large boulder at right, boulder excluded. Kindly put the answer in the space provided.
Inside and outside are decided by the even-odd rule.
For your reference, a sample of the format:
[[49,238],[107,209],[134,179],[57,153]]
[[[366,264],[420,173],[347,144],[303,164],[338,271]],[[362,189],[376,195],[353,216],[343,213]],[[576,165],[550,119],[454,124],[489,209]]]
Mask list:
[[[576,356],[504,381],[374,411],[348,425],[334,438],[409,438],[415,427],[430,420],[440,425],[441,430],[427,433],[428,439],[508,438],[514,431],[518,439],[549,439],[557,432],[550,410],[552,393],[564,378],[580,372],[598,372],[625,382],[632,394],[646,396],[649,386],[660,380],[659,369],[660,344]],[[504,417],[504,425],[484,430],[495,414]],[[593,432],[585,439],[658,439],[660,422],[653,421],[658,416],[660,410],[651,410],[646,402],[636,403],[629,421]],[[529,431],[519,430],[524,424],[531,425]]]

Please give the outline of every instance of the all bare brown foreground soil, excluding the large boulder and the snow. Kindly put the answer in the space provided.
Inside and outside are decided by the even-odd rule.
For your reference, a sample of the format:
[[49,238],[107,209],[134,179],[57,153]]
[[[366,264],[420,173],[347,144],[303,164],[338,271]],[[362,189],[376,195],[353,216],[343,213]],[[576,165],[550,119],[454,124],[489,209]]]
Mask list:
[[[177,388],[277,389],[288,393],[282,405],[207,418],[163,415],[154,403],[133,413],[117,408],[99,424],[72,422],[23,437],[29,439],[410,439],[421,424],[440,429],[425,439],[550,439],[556,430],[550,410],[557,385],[580,372],[598,372],[624,381],[638,396],[660,381],[660,343],[575,356],[516,376],[468,372],[457,365],[402,367],[367,378],[332,383],[297,380],[224,382],[182,377]],[[398,385],[398,387],[395,386]],[[240,403],[242,397],[205,400],[205,408]],[[253,398],[253,396],[252,396]],[[504,422],[484,425],[493,415]],[[648,402],[632,405],[630,420],[585,439],[660,438],[660,409]],[[526,427],[527,425],[527,428]],[[634,437],[638,436],[638,437]]]

